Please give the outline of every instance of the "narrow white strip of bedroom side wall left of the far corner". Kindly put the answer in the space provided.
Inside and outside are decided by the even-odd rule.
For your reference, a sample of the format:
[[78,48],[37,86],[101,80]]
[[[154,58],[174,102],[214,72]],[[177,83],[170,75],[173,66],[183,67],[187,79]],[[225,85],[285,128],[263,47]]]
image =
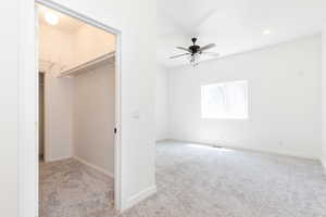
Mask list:
[[155,91],[156,141],[168,139],[167,116],[167,69],[158,65]]

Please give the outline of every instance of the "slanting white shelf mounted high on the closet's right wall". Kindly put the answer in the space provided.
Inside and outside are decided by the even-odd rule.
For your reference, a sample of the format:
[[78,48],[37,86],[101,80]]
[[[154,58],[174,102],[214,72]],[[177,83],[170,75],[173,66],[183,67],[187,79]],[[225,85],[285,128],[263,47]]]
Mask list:
[[[73,76],[79,73],[85,73],[88,69],[93,69],[105,63],[114,63],[114,56],[115,56],[115,52],[105,53],[103,55],[100,55],[99,58],[96,58],[80,65],[64,69],[63,72],[60,73],[58,77],[60,78],[65,76]],[[108,62],[108,61],[112,61],[112,62]]]

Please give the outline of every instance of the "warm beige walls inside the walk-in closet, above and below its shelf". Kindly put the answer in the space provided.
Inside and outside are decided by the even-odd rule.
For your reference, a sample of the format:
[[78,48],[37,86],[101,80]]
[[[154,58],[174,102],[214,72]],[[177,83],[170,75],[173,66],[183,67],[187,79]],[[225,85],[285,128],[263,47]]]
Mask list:
[[86,24],[51,26],[40,21],[39,49],[45,72],[45,161],[76,157],[113,175],[114,59],[75,75],[60,75],[114,52],[115,36]]

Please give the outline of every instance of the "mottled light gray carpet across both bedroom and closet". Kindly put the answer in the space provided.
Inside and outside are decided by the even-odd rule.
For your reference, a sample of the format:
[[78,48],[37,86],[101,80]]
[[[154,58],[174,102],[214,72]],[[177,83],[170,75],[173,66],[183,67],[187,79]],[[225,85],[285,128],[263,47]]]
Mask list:
[[316,161],[173,141],[156,144],[158,194],[114,213],[113,180],[74,159],[40,168],[42,217],[325,217]]

